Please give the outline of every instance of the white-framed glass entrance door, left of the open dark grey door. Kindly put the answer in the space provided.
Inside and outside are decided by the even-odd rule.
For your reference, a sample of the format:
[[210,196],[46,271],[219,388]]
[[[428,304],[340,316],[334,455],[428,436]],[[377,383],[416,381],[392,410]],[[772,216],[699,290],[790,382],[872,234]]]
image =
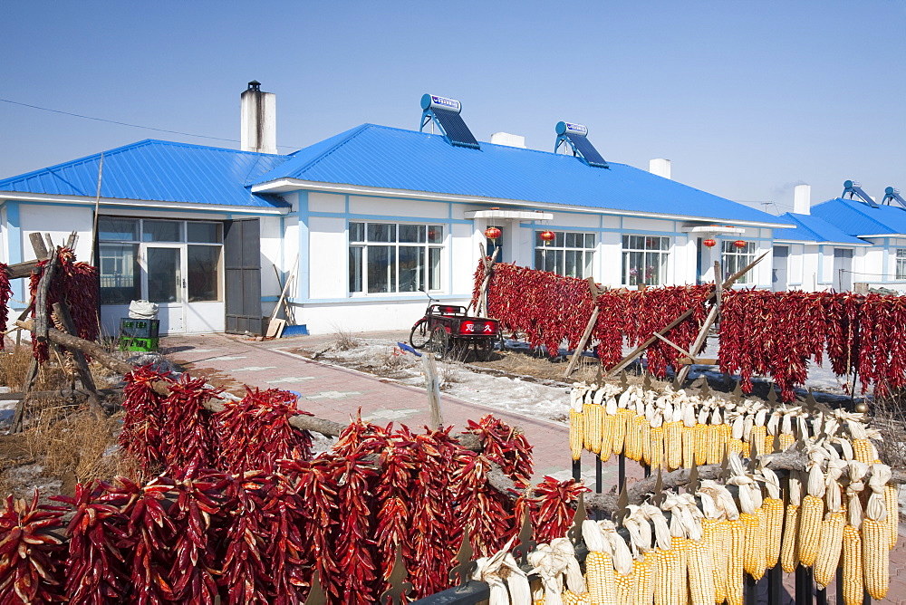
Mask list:
[[186,331],[184,245],[145,245],[145,292],[160,309],[161,333]]

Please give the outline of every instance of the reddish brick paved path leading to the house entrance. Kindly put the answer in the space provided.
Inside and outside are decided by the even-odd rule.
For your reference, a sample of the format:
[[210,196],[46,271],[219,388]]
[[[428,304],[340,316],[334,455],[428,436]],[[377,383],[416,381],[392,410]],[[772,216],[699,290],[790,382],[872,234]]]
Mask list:
[[[361,336],[403,341],[408,333],[376,332]],[[167,336],[161,339],[161,352],[171,360],[191,362],[194,365],[193,375],[216,370],[249,386],[294,390],[301,395],[299,407],[318,418],[348,422],[361,409],[362,418],[379,424],[392,421],[415,428],[428,423],[429,412],[424,389],[308,360],[291,352],[301,347],[316,348],[332,339],[331,336],[323,336],[258,342],[223,334]],[[529,443],[534,447],[535,482],[540,481],[544,475],[554,475],[561,479],[571,475],[569,430],[565,425],[519,416],[444,395],[440,399],[444,423],[452,424],[454,433],[466,427],[467,420],[477,420],[488,413],[493,413],[511,426],[522,427]],[[582,466],[586,485],[594,485],[593,455],[586,453]],[[626,467],[630,482],[641,478],[640,466],[627,461]],[[613,456],[602,468],[604,491],[608,491],[616,482],[616,458]],[[793,575],[787,574],[784,583],[787,591],[792,594]],[[766,595],[766,584],[761,592]],[[827,596],[829,603],[836,602],[833,583],[828,588]],[[888,598],[879,602],[906,605],[906,532],[902,525],[900,543],[891,552],[891,589]],[[785,605],[786,603],[793,603],[793,600],[785,600]]]

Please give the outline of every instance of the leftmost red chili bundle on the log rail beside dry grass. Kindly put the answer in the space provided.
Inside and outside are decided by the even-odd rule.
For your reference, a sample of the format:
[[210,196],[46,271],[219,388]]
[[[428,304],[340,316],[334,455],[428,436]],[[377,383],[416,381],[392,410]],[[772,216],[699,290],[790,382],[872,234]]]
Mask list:
[[152,370],[150,366],[136,368],[123,377],[122,407],[126,414],[118,439],[120,447],[134,457],[147,476],[157,473],[164,466],[163,437],[165,414],[163,397],[151,384],[156,380],[172,383],[168,373]]

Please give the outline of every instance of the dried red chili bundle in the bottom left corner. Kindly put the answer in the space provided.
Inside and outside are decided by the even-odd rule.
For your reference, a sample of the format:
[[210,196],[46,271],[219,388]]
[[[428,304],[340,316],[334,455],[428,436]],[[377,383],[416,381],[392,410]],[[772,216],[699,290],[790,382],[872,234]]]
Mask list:
[[66,508],[6,498],[0,514],[0,603],[63,601]]

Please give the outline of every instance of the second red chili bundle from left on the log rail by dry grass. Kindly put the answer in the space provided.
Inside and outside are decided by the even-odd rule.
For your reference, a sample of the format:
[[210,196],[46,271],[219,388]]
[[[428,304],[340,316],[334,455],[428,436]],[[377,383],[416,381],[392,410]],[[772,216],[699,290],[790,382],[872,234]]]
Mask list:
[[193,379],[188,372],[169,385],[170,394],[162,402],[164,423],[161,454],[164,466],[179,475],[187,467],[211,468],[219,456],[219,439],[213,415],[204,405],[222,389],[205,385],[204,378]]

